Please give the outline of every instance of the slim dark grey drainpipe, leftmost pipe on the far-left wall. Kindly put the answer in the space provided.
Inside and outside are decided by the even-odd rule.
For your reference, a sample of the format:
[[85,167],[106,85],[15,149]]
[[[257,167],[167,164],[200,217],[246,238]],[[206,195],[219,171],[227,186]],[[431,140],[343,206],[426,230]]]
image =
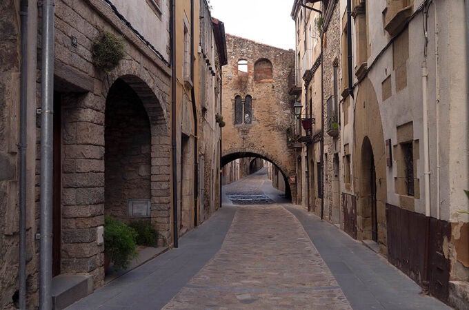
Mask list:
[[21,0],[21,84],[19,103],[19,309],[26,309],[26,143],[28,123],[28,0]]

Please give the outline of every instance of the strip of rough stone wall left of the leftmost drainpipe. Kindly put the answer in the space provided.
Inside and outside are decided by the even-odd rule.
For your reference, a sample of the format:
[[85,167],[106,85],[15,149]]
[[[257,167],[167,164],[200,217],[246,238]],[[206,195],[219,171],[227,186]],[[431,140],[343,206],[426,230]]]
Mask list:
[[0,10],[0,309],[13,309],[19,255],[17,108],[19,104],[19,16],[17,1]]

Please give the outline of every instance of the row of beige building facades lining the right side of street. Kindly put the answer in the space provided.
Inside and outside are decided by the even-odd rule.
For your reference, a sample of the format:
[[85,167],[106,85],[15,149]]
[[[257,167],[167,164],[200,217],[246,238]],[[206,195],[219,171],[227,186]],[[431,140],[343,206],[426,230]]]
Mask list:
[[[297,35],[307,23],[303,2],[295,1],[292,10]],[[324,196],[311,209],[317,213],[323,203],[318,215],[364,240],[432,295],[465,309],[464,1],[332,0],[306,6],[323,17]],[[337,137],[328,132],[335,129],[331,116]]]

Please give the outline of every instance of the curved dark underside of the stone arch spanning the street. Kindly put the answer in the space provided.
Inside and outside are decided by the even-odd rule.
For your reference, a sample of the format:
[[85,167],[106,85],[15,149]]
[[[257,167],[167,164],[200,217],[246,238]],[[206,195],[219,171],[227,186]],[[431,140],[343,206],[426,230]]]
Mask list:
[[283,176],[283,180],[285,182],[286,198],[290,199],[292,197],[292,192],[296,193],[295,184],[290,184],[289,182],[289,178],[293,175],[293,173],[285,165],[282,165],[277,158],[259,149],[231,149],[227,152],[223,152],[223,155],[221,156],[221,167],[223,167],[227,163],[230,163],[230,161],[234,161],[238,158],[244,157],[257,157],[265,159],[266,161],[269,161],[270,163],[275,165]]

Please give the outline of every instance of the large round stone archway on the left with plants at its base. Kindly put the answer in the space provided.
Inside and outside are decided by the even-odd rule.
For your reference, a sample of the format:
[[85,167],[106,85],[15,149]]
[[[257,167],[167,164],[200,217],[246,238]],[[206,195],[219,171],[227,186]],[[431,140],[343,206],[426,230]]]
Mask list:
[[132,218],[128,206],[137,205],[134,215],[139,216],[147,203],[150,214],[146,218],[159,231],[159,242],[167,243],[170,238],[167,107],[149,83],[153,83],[149,76],[141,78],[134,74],[122,74],[116,79],[107,76],[104,81],[105,214],[128,222]]

